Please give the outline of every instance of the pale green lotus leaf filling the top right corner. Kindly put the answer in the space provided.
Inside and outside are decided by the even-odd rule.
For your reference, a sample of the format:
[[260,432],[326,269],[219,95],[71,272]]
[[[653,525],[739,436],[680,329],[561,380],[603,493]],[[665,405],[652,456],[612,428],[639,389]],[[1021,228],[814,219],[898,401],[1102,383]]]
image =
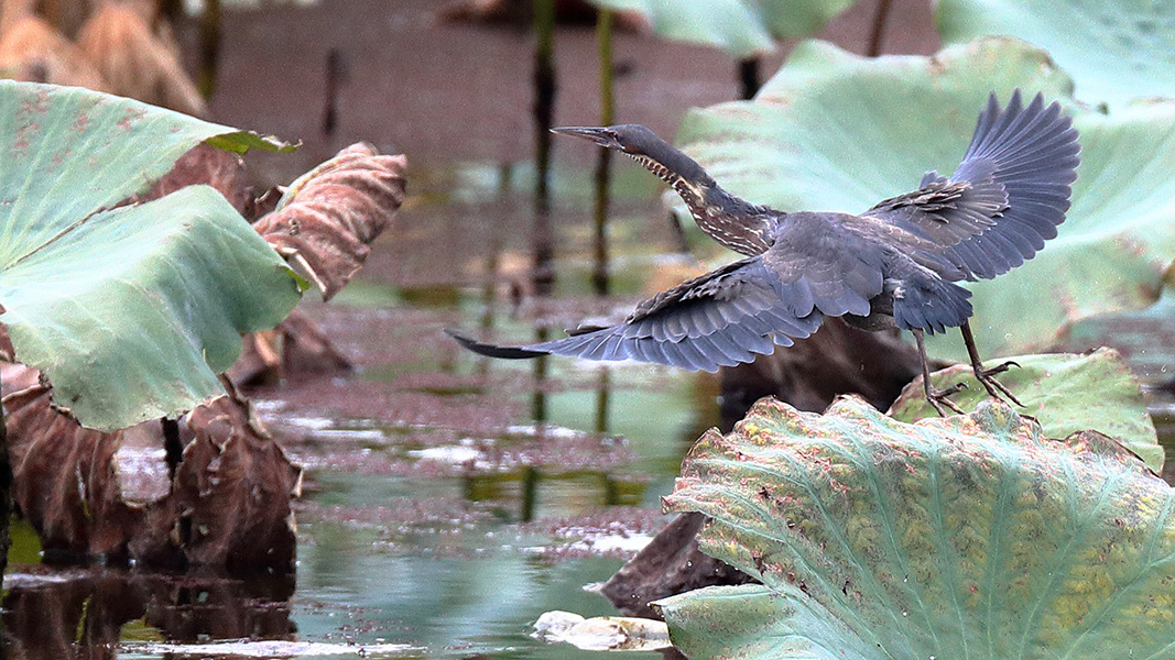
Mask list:
[[1007,34],[1047,49],[1083,101],[1175,97],[1175,2],[938,0],[935,18],[944,43]]

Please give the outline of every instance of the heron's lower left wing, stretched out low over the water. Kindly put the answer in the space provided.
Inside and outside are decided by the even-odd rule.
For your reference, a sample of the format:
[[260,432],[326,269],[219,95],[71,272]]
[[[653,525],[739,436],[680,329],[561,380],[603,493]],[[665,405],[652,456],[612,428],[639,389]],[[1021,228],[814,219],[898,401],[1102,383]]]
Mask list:
[[818,311],[788,311],[764,267],[751,257],[707,272],[640,303],[617,325],[526,346],[499,346],[449,332],[465,348],[490,357],[562,355],[584,359],[636,359],[716,371],[790,346],[820,326]]

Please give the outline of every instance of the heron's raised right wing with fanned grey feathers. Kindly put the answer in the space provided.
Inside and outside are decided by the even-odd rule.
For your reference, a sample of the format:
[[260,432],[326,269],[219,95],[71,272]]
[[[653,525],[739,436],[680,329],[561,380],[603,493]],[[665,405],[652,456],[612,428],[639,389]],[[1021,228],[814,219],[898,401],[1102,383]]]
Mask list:
[[1025,107],[1018,89],[1001,109],[993,93],[951,179],[929,173],[919,190],[862,215],[933,241],[972,275],[992,278],[1056,236],[1079,150],[1077,132],[1058,103],[1046,107],[1038,94]]

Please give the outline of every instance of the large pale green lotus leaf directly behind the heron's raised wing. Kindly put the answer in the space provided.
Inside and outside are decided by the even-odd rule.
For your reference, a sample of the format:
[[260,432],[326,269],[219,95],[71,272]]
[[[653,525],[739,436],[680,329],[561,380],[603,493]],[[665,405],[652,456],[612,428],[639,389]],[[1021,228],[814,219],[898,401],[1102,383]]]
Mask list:
[[[753,101],[690,113],[677,141],[752,202],[862,213],[915,189],[926,170],[954,171],[987,95],[1007,101],[1018,87],[1059,100],[1082,147],[1059,237],[1025,265],[968,284],[981,353],[1028,353],[1079,319],[1157,299],[1175,258],[1175,102],[1089,110],[1047,53],[1014,39],[877,59],[805,42]],[[929,348],[966,357],[954,332]]]

